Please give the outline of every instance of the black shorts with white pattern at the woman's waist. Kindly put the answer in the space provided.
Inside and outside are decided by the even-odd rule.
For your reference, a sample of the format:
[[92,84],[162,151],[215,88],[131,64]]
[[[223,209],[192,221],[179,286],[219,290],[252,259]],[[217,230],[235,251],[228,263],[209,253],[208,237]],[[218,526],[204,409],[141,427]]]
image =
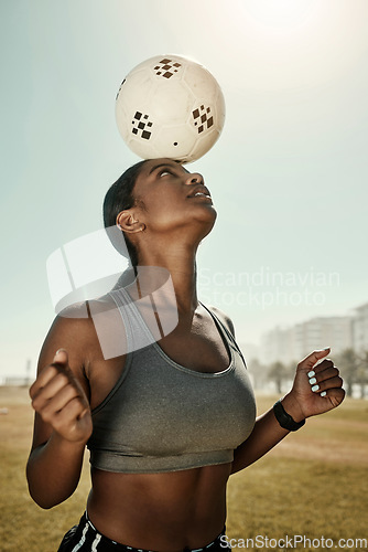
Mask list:
[[[183,552],[226,552],[231,550],[226,543],[224,531],[216,539],[202,549],[185,548]],[[223,537],[223,539],[221,539]],[[57,552],[154,552],[143,549],[134,549],[111,541],[99,533],[88,519],[87,512],[83,514],[79,526],[74,526],[67,533]]]

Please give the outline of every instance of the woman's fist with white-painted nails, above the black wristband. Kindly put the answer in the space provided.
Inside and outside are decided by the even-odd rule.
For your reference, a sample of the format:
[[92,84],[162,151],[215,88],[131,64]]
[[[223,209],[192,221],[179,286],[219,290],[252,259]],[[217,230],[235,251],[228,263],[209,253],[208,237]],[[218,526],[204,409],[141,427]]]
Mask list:
[[321,361],[328,353],[329,349],[313,351],[297,364],[292,390],[282,400],[285,411],[295,422],[328,412],[344,400],[343,380],[337,368],[331,359]]

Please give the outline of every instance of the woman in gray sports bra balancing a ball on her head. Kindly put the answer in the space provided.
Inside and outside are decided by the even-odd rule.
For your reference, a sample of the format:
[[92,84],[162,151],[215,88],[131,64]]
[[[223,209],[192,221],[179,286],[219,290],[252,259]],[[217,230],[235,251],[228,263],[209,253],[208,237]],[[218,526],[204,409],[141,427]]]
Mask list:
[[[325,359],[328,349],[314,351],[299,363],[290,393],[256,421],[232,325],[197,299],[196,250],[216,219],[201,174],[170,159],[142,161],[111,187],[104,209],[106,226],[122,231],[133,265],[169,272],[177,326],[159,343],[129,346],[139,328],[150,335],[144,307],[136,306],[139,276],[128,291],[116,290],[120,302],[108,294],[87,305],[87,317],[78,317],[86,305],[56,317],[30,390],[31,496],[43,508],[67,499],[88,442],[87,512],[59,550],[226,550],[230,474],[306,417],[337,406],[342,379]],[[93,312],[97,305],[112,312],[108,323],[119,323],[112,302],[125,321],[126,352],[104,358]]]

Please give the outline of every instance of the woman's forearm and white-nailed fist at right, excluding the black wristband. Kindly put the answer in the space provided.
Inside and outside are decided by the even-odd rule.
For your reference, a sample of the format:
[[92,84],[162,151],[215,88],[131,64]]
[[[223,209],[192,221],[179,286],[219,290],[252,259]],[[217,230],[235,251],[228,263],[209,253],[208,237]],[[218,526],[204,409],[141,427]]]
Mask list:
[[[329,349],[314,351],[297,364],[293,386],[281,400],[294,422],[328,412],[344,400],[343,380],[333,361],[324,359],[317,363],[328,352]],[[231,474],[258,460],[289,433],[279,424],[273,408],[259,416],[250,436],[234,452]]]

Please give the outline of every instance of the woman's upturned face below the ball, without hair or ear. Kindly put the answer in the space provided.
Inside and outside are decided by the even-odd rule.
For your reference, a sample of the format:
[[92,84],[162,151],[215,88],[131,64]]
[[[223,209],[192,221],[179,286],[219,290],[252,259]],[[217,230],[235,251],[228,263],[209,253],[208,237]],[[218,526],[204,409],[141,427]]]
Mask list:
[[[170,159],[147,161],[139,173],[133,195],[139,219],[151,231],[173,231],[202,226],[206,234],[216,211],[202,174],[187,171]],[[143,202],[144,206],[139,206]]]

